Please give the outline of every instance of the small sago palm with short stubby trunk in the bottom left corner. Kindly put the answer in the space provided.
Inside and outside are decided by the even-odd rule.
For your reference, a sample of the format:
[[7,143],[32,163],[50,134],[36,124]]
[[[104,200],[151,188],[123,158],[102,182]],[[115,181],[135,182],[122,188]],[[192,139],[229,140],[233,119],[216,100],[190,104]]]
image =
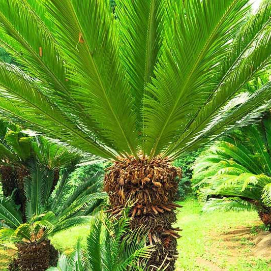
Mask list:
[[[55,266],[57,251],[50,244],[50,236],[59,231],[89,223],[96,208],[107,194],[101,192],[102,179],[89,177],[85,183],[69,193],[67,168],[59,185],[54,189],[54,176],[46,167],[34,162],[25,180],[26,221],[12,197],[0,200],[0,240],[14,243],[18,249],[17,258],[10,264],[11,270],[45,271]],[[65,202],[62,198],[66,194]]]

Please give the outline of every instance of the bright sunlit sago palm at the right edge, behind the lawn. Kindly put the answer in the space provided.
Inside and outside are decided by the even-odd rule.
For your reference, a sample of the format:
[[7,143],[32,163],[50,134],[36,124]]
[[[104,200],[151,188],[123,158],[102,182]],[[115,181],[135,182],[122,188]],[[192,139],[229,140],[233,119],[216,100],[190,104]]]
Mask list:
[[257,210],[271,226],[271,116],[216,142],[197,159],[193,182],[204,210]]

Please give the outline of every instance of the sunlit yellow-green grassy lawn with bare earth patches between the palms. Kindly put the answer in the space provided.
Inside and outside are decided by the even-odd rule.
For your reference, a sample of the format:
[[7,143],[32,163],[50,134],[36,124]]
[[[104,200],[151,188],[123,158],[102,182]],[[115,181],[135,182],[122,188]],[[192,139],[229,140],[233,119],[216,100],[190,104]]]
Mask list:
[[[253,237],[261,229],[256,213],[203,214],[194,198],[180,204],[184,207],[177,215],[177,226],[183,229],[183,237],[178,239],[177,271],[271,271],[270,260],[256,259],[252,253]],[[88,231],[88,225],[75,227],[55,235],[51,242],[70,253],[78,238],[85,242]],[[0,270],[5,270],[12,253],[0,251]]]

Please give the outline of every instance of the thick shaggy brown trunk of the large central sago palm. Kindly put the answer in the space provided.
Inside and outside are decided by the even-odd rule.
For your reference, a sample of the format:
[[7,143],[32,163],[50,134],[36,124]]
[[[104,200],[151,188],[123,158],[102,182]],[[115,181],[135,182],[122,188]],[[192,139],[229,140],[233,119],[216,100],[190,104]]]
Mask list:
[[158,267],[165,260],[162,266],[167,266],[167,271],[174,270],[177,258],[176,239],[180,229],[171,225],[176,222],[174,210],[179,207],[173,200],[180,175],[180,169],[166,160],[147,162],[142,159],[138,162],[133,158],[116,162],[105,175],[105,190],[110,197],[112,214],[119,216],[127,203],[134,203],[130,210],[131,227],[148,227],[148,243],[156,246],[147,266]]

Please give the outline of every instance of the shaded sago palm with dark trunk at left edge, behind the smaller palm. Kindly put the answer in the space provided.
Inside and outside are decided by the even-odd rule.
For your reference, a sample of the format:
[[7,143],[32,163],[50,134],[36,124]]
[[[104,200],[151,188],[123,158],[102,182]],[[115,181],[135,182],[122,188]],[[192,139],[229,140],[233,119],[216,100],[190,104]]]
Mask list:
[[5,197],[14,193],[15,202],[25,209],[24,178],[29,175],[29,166],[33,161],[47,167],[54,175],[52,190],[59,179],[59,169],[79,155],[69,149],[49,142],[40,136],[28,136],[21,128],[0,120],[0,175]]

